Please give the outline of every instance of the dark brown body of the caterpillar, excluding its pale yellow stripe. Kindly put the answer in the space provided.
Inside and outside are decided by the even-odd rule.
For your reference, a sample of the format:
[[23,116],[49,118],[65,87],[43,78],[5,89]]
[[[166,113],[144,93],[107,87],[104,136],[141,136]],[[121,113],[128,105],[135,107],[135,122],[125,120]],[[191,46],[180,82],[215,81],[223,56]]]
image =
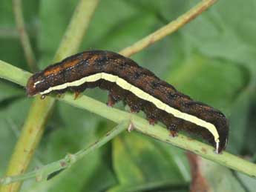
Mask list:
[[[65,82],[73,82],[85,76],[101,72],[119,76],[131,85],[160,99],[165,104],[215,125],[220,135],[219,152],[226,148],[229,125],[223,113],[203,103],[194,102],[189,96],[178,92],[174,87],[159,79],[151,71],[140,67],[133,60],[125,58],[118,53],[104,50],[85,51],[70,56],[62,62],[50,65],[45,70],[30,77],[27,82],[27,94],[33,96],[47,90],[49,87],[62,85]],[[36,87],[33,87],[33,83],[37,81],[40,81],[40,83],[36,84]],[[198,133],[204,139],[208,140],[211,145],[215,146],[214,137],[206,128],[201,128],[191,122],[178,119],[158,109],[151,102],[138,98],[134,93],[123,90],[115,83],[102,79],[97,82],[87,82],[79,87],[68,87],[68,89],[75,92],[82,92],[86,88],[92,87],[100,87],[109,91],[108,105],[112,106],[115,102],[123,100],[131,107],[131,111],[138,112],[143,110],[152,124],[160,121],[172,131],[187,130],[191,133]],[[64,91],[57,90],[56,92],[62,93]]]

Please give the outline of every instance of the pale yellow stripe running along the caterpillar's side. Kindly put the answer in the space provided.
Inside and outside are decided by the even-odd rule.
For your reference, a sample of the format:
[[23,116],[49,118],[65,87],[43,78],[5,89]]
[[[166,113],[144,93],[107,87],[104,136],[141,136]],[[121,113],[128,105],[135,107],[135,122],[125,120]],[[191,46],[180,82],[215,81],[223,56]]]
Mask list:
[[41,92],[40,94],[45,95],[47,93],[50,93],[53,90],[62,90],[67,87],[77,87],[79,85],[84,84],[85,82],[96,82],[99,79],[105,79],[108,82],[116,82],[116,85],[119,85],[119,87],[122,87],[125,90],[131,91],[131,93],[134,93],[134,95],[138,96],[140,99],[144,99],[145,101],[153,103],[160,110],[165,110],[167,113],[171,113],[173,116],[177,118],[184,119],[188,122],[192,122],[196,125],[199,125],[203,128],[208,129],[211,132],[211,134],[214,136],[214,141],[217,143],[217,146],[218,146],[218,143],[220,142],[219,134],[217,133],[217,129],[213,124],[206,122],[203,119],[199,119],[197,116],[192,116],[191,114],[183,113],[180,110],[175,109],[174,107],[170,107],[169,105],[166,105],[164,102],[161,102],[160,99],[157,99],[154,96],[151,96],[145,91],[141,90],[140,88],[135,87],[134,85],[131,85],[125,79],[119,78],[119,76],[114,76],[108,73],[96,73],[91,76],[86,76],[82,79],[76,80],[74,82],[66,82],[62,85],[49,87],[47,90]]

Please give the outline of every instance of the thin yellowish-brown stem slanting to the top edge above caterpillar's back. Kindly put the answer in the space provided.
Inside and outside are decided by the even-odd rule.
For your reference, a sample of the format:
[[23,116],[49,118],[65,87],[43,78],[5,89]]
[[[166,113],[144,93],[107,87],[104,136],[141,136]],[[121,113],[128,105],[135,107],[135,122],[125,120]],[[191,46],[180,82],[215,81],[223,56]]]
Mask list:
[[188,12],[184,13],[178,19],[171,21],[169,24],[166,24],[164,27],[160,28],[154,33],[151,33],[150,35],[141,39],[139,42],[136,42],[131,46],[121,50],[119,53],[124,56],[131,56],[135,53],[138,53],[140,50],[145,49],[145,47],[148,47],[149,45],[158,42],[165,36],[168,36],[171,33],[174,33],[176,30],[180,29],[180,27],[183,27],[184,24],[199,16],[201,13],[203,13],[203,11],[211,7],[211,5],[214,4],[216,1],[217,0],[200,1],[200,3],[192,7],[191,10],[188,10]]

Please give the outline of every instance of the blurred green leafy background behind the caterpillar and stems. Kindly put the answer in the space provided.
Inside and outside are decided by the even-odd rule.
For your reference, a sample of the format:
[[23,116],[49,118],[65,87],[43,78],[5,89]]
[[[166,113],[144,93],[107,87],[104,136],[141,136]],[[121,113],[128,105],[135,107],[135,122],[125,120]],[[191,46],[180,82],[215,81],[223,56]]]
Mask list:
[[[197,2],[100,1],[79,50],[118,52],[176,19]],[[23,1],[26,28],[41,69],[50,64],[76,3]],[[219,1],[176,33],[132,56],[194,100],[222,110],[230,123],[227,150],[254,162],[255,21],[255,0]],[[0,1],[0,59],[29,70],[9,0]],[[107,93],[99,89],[87,90],[85,94],[102,102],[107,99]],[[25,96],[24,87],[0,79],[0,176],[7,167],[31,101]],[[113,128],[114,123],[57,102],[46,127],[30,170],[85,148]],[[255,190],[255,179],[224,171],[227,170],[221,168],[214,173],[232,178],[224,185]],[[48,182],[24,182],[22,191],[188,191],[190,181],[186,151],[140,133],[124,133]]]

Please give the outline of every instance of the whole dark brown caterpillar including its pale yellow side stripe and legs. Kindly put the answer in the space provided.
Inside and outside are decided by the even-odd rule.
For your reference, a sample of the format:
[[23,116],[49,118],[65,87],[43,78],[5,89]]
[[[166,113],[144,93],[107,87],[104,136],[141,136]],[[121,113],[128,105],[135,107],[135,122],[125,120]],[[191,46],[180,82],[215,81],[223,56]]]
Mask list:
[[142,110],[149,123],[162,122],[172,136],[178,130],[197,133],[214,146],[226,148],[229,124],[220,110],[195,102],[150,70],[107,50],[90,50],[70,56],[30,76],[27,96],[71,90],[75,98],[87,88],[108,90],[108,105],[123,100],[131,112]]

